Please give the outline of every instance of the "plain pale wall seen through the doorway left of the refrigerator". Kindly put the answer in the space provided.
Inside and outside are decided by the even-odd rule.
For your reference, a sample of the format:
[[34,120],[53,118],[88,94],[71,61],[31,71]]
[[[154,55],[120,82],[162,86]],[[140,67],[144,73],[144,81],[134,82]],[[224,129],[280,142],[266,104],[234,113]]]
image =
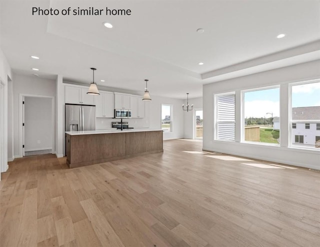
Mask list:
[[52,149],[51,101],[24,97],[24,151]]

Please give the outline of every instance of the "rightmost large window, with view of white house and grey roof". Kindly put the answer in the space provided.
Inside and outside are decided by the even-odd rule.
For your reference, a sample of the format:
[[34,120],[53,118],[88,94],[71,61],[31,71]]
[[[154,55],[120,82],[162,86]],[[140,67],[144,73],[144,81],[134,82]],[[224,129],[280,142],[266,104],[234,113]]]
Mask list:
[[[291,85],[291,145],[316,147],[320,135],[320,82]],[[293,124],[296,125],[293,128]],[[298,137],[297,137],[298,136]],[[302,138],[301,138],[302,136]],[[318,148],[317,148],[318,149]]]

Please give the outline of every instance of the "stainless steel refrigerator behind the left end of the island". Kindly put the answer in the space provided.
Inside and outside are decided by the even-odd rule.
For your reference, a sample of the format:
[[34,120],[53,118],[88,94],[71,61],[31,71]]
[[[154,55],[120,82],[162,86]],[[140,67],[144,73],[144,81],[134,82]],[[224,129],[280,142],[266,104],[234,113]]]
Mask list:
[[95,106],[65,104],[65,131],[95,130]]

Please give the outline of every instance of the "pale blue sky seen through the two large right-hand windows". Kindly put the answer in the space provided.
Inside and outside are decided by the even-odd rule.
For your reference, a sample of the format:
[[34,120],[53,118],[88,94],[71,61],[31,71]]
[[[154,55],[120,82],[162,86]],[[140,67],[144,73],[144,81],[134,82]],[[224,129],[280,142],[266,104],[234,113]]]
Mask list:
[[[292,86],[292,107],[320,106],[320,82]],[[244,93],[244,117],[279,116],[279,88]]]

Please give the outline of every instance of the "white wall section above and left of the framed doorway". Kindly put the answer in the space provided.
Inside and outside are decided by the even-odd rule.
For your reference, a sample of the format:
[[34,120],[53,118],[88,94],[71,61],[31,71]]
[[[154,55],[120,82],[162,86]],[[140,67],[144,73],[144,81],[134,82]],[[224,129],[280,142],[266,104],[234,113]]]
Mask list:
[[19,95],[55,96],[55,80],[35,76],[13,74],[13,152],[14,157],[21,157],[19,139]]

